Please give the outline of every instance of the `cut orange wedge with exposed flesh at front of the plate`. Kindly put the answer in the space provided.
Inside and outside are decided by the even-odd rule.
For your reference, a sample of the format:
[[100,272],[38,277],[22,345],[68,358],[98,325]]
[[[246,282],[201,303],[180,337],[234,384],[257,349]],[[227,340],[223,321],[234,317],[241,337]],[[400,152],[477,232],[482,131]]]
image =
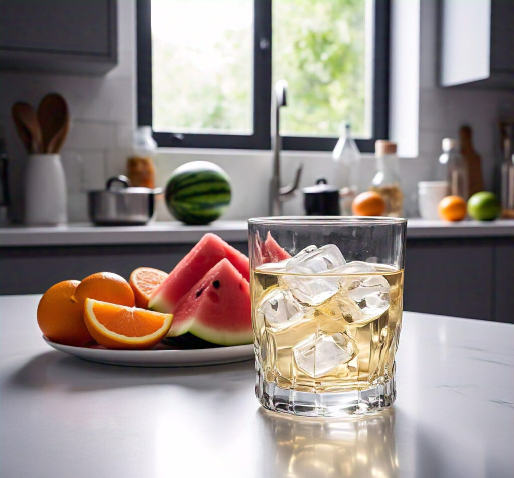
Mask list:
[[104,347],[145,350],[159,343],[173,316],[152,310],[111,304],[95,299],[84,303],[84,322],[93,338]]

